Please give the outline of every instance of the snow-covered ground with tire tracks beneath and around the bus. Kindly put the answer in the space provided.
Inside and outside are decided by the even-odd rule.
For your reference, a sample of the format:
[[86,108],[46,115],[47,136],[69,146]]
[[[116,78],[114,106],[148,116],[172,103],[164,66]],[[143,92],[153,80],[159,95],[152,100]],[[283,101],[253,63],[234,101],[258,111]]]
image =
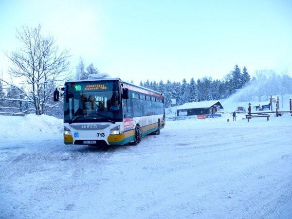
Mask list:
[[108,149],[56,130],[1,136],[0,218],[292,218],[292,116],[169,121]]

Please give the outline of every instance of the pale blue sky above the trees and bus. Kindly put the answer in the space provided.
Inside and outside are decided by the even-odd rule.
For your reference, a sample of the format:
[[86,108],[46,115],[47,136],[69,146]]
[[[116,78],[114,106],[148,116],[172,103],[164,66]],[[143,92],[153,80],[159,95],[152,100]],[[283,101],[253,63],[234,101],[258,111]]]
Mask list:
[[222,78],[235,64],[292,74],[292,0],[0,0],[4,74],[16,28],[38,23],[71,50],[73,72],[82,56],[135,83]]

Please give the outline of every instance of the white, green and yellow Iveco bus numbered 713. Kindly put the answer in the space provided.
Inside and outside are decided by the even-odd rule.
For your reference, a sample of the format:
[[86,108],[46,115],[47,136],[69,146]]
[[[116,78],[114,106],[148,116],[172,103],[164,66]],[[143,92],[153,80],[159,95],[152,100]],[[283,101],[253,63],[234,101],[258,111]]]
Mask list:
[[64,144],[138,145],[143,136],[165,126],[164,96],[119,78],[66,81],[56,88],[64,97]]

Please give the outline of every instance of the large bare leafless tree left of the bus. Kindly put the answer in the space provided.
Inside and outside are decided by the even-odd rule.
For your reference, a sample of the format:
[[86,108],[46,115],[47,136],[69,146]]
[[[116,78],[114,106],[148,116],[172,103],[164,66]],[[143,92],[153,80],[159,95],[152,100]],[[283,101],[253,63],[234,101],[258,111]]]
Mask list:
[[55,86],[62,84],[69,75],[69,51],[60,51],[54,37],[41,33],[40,25],[36,28],[23,26],[17,30],[16,37],[22,46],[6,55],[13,63],[9,73],[21,78],[24,88],[2,81],[18,90],[23,97],[21,101],[32,103],[36,114],[40,115],[56,106],[49,104],[49,100],[53,98]]

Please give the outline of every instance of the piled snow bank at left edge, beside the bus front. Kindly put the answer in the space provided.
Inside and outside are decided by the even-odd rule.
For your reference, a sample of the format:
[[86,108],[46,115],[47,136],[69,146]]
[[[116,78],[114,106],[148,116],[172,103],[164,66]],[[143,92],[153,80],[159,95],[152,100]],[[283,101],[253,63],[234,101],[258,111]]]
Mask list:
[[54,116],[29,114],[22,116],[0,116],[0,137],[36,138],[39,135],[60,134],[63,120]]

